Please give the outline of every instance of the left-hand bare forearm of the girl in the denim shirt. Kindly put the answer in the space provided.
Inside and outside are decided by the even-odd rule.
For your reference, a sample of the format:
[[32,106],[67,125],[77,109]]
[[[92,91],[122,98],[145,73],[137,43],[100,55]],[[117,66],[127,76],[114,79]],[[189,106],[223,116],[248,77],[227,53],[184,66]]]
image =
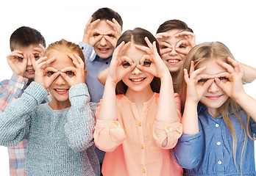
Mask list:
[[199,132],[197,103],[186,100],[185,108],[182,116],[183,133],[195,134]]

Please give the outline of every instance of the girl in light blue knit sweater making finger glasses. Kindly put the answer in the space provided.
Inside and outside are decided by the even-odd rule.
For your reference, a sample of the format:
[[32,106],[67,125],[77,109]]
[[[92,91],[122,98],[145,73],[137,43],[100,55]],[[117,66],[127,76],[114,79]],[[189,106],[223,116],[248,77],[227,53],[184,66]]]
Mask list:
[[[35,81],[0,114],[0,144],[27,139],[26,175],[99,175],[82,50],[60,40],[30,57]],[[51,101],[40,104],[46,89]]]

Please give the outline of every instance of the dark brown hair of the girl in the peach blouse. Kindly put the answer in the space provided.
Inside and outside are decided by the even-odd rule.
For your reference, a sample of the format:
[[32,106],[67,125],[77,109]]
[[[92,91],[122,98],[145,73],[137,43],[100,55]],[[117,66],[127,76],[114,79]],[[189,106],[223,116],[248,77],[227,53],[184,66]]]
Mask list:
[[[124,34],[122,34],[121,37],[119,37],[119,39],[117,41],[117,45],[120,45],[120,43],[124,41],[124,43],[132,42],[137,45],[148,46],[146,44],[145,37],[148,37],[148,39],[151,43],[153,43],[154,41],[156,42],[157,52],[158,52],[158,54],[160,54],[157,39],[149,31],[147,31],[146,29],[142,29],[142,28],[135,28],[133,30],[127,30],[126,32],[124,32]],[[150,86],[151,86],[151,89],[153,92],[159,93],[160,92],[160,78],[154,77],[152,82],[150,83]],[[117,95],[124,94],[125,92],[127,92],[127,88],[128,88],[127,85],[124,84],[124,82],[121,80],[118,82],[118,84],[116,84],[115,94],[117,94]]]

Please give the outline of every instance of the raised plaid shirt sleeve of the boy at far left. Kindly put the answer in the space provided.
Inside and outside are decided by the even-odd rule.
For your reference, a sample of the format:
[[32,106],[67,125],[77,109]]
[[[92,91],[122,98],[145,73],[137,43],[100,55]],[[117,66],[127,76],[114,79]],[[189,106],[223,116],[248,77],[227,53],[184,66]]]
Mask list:
[[14,75],[10,80],[4,80],[0,83],[0,112],[4,111],[6,107],[20,97],[24,91],[28,79],[22,76]]

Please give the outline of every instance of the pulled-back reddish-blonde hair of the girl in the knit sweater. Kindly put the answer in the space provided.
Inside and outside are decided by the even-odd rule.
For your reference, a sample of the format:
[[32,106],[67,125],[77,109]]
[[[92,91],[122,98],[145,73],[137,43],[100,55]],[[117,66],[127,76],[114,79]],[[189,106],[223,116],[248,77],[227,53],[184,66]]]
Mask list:
[[68,42],[67,40],[59,40],[57,42],[51,43],[44,54],[44,56],[49,56],[53,51],[65,51],[67,53],[71,54],[77,54],[79,57],[81,57],[82,61],[85,62],[85,56],[82,53],[82,49],[79,47],[79,45],[75,43]]

